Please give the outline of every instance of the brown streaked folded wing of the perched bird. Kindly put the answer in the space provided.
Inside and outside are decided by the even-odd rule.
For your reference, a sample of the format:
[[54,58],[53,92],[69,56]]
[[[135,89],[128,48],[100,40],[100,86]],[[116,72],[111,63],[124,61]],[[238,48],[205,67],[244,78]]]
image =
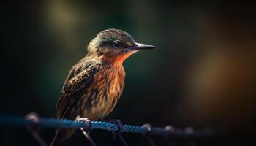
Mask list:
[[69,107],[75,105],[86,88],[94,82],[94,75],[99,72],[100,66],[99,63],[80,62],[72,67],[59,96],[57,118],[64,118]]

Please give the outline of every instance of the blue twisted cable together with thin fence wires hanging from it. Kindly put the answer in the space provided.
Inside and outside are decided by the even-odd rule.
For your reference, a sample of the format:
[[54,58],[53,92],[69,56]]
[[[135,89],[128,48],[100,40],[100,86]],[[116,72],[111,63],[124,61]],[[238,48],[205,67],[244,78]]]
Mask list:
[[[89,139],[91,145],[95,145],[95,142],[89,137],[88,132],[93,129],[102,129],[106,131],[120,132],[120,127],[114,123],[108,123],[105,121],[92,121],[89,119],[80,120],[67,120],[67,119],[56,119],[56,118],[40,118],[36,113],[31,113],[29,116],[20,117],[12,115],[0,115],[0,126],[26,126],[26,127],[37,127],[37,128],[80,128],[83,134]],[[191,128],[189,128],[191,129]],[[144,134],[147,137],[149,135],[162,135],[165,137],[212,137],[215,133],[209,129],[203,130],[188,130],[188,129],[174,129],[170,126],[164,128],[150,126],[135,126],[135,125],[123,125],[121,128],[122,133],[137,133]],[[45,145],[45,142],[34,130],[31,134],[38,138],[37,141],[41,142],[41,145]],[[124,141],[125,142],[125,141]],[[154,145],[151,141],[151,145]],[[127,145],[125,143],[125,145]]]

